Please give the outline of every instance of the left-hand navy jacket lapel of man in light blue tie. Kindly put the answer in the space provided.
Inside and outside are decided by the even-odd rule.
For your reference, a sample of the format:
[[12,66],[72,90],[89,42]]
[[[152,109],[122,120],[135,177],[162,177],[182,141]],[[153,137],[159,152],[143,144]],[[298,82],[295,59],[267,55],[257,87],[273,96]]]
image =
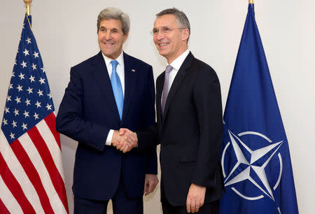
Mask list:
[[109,78],[109,72],[107,71],[102,52],[99,52],[99,54],[95,56],[94,62],[92,62],[92,64],[94,65],[91,71],[92,76],[94,76],[95,82],[99,86],[104,99],[107,101],[109,106],[111,106],[113,113],[120,122],[115,97],[113,95],[113,88],[111,87],[111,79]]

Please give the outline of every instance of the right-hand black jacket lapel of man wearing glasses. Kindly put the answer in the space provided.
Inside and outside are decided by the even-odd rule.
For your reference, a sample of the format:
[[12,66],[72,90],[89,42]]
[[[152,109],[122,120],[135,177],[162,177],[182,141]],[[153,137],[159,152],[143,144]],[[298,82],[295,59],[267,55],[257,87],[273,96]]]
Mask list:
[[[179,71],[177,72],[174,81],[172,83],[171,88],[169,89],[169,94],[167,95],[167,101],[165,103],[165,112],[163,115],[163,121],[162,124],[165,121],[165,117],[167,115],[167,112],[169,110],[169,106],[172,103],[172,99],[174,98],[174,94],[176,94],[176,91],[179,89],[179,86],[181,85],[181,82],[183,81],[183,78],[186,76],[186,70],[190,68],[190,64],[193,61],[194,56],[191,52],[189,52],[188,56],[184,60],[183,64],[179,68]],[[164,81],[163,81],[164,83]]]

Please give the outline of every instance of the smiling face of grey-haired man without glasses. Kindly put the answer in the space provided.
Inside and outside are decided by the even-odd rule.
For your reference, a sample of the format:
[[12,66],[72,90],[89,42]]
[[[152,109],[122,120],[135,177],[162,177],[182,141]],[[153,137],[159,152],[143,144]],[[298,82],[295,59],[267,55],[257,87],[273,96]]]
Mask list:
[[99,48],[106,57],[116,59],[123,50],[128,34],[123,34],[120,20],[102,20],[97,32]]

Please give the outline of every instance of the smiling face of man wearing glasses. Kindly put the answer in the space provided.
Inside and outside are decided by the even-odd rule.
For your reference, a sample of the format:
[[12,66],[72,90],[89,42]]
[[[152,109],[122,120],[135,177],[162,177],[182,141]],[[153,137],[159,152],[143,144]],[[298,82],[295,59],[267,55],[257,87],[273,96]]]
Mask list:
[[[170,30],[163,34],[161,29]],[[153,36],[155,46],[169,64],[187,50],[189,30],[181,29],[175,15],[167,14],[157,17],[153,28],[153,31],[155,30],[159,30],[158,34]]]

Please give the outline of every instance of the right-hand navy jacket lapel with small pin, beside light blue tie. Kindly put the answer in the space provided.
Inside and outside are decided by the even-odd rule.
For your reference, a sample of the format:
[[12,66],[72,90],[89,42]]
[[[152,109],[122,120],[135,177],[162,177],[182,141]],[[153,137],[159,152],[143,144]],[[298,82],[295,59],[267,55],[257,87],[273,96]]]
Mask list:
[[137,68],[132,67],[129,55],[125,52],[123,55],[125,64],[125,97],[122,122],[125,121],[128,111],[130,110],[130,104],[132,103],[132,97],[134,95],[134,87],[137,82]]

